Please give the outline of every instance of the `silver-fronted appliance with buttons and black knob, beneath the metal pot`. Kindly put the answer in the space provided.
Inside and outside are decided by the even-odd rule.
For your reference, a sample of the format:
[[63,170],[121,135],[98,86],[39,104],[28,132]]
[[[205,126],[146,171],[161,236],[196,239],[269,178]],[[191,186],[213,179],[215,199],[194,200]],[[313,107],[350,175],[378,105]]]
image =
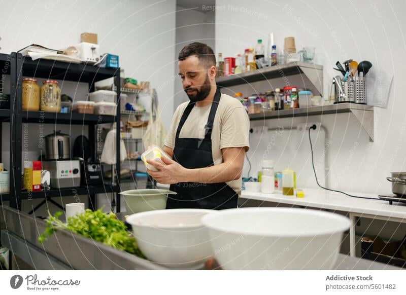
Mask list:
[[79,161],[43,161],[42,167],[50,173],[51,188],[61,189],[80,186]]

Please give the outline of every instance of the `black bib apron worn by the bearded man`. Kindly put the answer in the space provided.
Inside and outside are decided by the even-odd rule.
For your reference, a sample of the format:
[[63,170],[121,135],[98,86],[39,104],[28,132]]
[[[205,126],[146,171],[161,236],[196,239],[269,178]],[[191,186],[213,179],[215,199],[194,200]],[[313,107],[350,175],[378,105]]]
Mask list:
[[[183,112],[176,131],[173,160],[188,169],[205,168],[214,165],[212,153],[212,129],[214,117],[219,105],[221,93],[219,88],[210,108],[209,119],[205,126],[205,138],[179,138],[179,134],[187,117],[194,107],[189,102]],[[229,209],[237,207],[238,194],[227,183],[179,182],[171,185],[171,191],[177,195],[168,195],[166,209],[200,208]]]

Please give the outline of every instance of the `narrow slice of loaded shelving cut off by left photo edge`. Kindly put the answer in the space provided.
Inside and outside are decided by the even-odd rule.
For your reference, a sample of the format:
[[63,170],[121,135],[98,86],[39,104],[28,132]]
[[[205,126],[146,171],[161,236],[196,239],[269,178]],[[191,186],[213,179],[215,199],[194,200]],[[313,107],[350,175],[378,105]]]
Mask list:
[[[3,141],[3,123],[10,122],[10,134],[15,131],[15,125],[12,122],[13,118],[13,110],[10,110],[10,106],[14,105],[15,97],[16,97],[16,55],[15,54],[4,54],[0,53],[0,162],[4,163],[6,160],[4,157],[4,147],[3,145],[9,144],[9,151],[12,153],[13,146],[14,146],[14,138],[10,136],[9,142]],[[8,102],[7,102],[8,101]],[[4,178],[2,177],[0,183],[0,198],[1,201],[9,201],[11,192],[13,192],[13,182],[14,182],[14,175],[12,173],[13,169],[13,161],[12,157],[8,157],[9,159],[9,169],[8,174],[7,172],[0,172],[5,173]],[[5,181],[6,183],[4,183]],[[8,186],[7,186],[8,182]],[[8,191],[8,192],[7,192]]]

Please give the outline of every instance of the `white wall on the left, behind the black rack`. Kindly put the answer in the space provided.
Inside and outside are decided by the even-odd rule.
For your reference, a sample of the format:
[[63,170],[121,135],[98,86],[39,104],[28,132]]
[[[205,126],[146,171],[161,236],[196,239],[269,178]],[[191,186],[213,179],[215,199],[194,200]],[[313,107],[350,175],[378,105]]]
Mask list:
[[[173,76],[175,56],[176,1],[46,1],[4,2],[0,9],[0,52],[18,51],[32,43],[49,48],[64,48],[80,43],[80,33],[98,34],[100,52],[119,55],[120,66],[126,77],[150,81],[158,89],[162,121],[169,126],[174,107]],[[41,82],[41,81],[39,81]],[[87,85],[69,82],[62,93],[87,94]],[[141,99],[148,104],[148,97]],[[148,105],[147,105],[148,107]],[[59,127],[59,126],[58,126]],[[29,126],[29,134],[36,134],[37,126]],[[83,130],[82,130],[83,129]],[[44,134],[51,133],[52,125]],[[72,135],[72,144],[87,129],[82,126],[64,126],[62,131]],[[4,124],[3,142],[9,142],[9,125]],[[29,160],[39,155],[38,138],[29,140]],[[5,146],[5,145],[3,145]],[[7,161],[4,153],[3,161]]]

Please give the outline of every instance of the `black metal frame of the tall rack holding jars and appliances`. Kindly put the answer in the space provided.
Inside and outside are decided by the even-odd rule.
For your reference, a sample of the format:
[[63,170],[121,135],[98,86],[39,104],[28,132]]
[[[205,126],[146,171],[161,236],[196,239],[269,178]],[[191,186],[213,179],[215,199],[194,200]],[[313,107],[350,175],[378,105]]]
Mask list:
[[[3,56],[0,55],[0,64]],[[89,86],[89,92],[94,91],[94,83],[111,77],[116,77],[117,81],[117,105],[120,105],[120,68],[109,69],[99,68],[88,64],[76,64],[52,60],[31,60],[29,57],[23,57],[20,53],[11,54],[11,98],[10,110],[0,110],[0,121],[10,122],[10,194],[2,194],[2,201],[10,201],[10,206],[21,210],[22,200],[41,199],[51,200],[55,197],[88,195],[89,206],[96,209],[96,194],[115,193],[116,211],[120,212],[119,186],[120,173],[115,173],[114,184],[104,184],[100,186],[88,186],[77,188],[51,189],[48,191],[26,192],[22,190],[22,123],[42,123],[70,125],[87,125],[88,138],[93,144],[93,151],[96,145],[96,129],[99,124],[117,123],[116,132],[120,134],[120,107],[117,107],[115,116],[90,115],[90,114],[62,114],[46,112],[27,112],[22,110],[22,77],[55,79],[63,81],[84,82]],[[1,136],[1,134],[0,134]],[[1,137],[0,137],[1,138]],[[1,143],[0,143],[1,144]],[[120,146],[120,136],[116,136],[116,146]],[[1,147],[1,146],[0,146]],[[116,149],[117,163],[116,172],[120,171],[120,149]]]

